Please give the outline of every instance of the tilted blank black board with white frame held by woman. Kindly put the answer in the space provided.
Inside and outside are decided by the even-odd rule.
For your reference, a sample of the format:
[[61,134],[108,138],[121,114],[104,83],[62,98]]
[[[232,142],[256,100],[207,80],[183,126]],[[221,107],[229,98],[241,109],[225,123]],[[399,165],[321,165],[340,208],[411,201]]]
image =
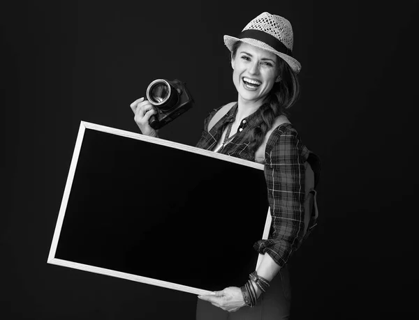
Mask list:
[[241,286],[266,192],[256,162],[82,121],[47,262],[192,294]]

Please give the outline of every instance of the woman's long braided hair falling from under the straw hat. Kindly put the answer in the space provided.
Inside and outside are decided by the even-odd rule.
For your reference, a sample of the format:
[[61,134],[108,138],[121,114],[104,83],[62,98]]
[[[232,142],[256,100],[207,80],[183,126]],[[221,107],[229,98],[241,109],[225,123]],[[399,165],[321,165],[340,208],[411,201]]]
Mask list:
[[[233,45],[232,58],[235,59],[237,49],[242,44],[237,41]],[[265,100],[255,112],[256,127],[248,132],[249,147],[254,154],[265,139],[266,132],[268,132],[275,119],[281,114],[288,115],[289,109],[300,96],[300,83],[298,82],[297,74],[283,59],[277,56],[278,75],[281,76],[279,82],[275,82],[272,89]]]

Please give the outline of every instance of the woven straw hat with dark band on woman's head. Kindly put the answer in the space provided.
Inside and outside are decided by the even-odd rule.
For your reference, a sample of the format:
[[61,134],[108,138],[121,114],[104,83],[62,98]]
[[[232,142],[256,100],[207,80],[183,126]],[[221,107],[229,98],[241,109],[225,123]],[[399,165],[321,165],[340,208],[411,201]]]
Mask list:
[[237,41],[277,54],[295,73],[301,70],[300,62],[293,58],[293,28],[284,17],[265,12],[251,20],[237,38],[224,36],[224,44],[230,51],[233,51],[233,45]]

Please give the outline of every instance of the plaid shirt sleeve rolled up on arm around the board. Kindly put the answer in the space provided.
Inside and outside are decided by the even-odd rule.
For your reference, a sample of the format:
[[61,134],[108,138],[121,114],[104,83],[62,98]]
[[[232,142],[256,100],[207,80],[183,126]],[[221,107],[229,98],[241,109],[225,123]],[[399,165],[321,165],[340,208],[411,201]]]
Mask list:
[[265,149],[267,199],[272,215],[270,236],[254,245],[284,266],[304,237],[304,157],[295,130],[274,130]]

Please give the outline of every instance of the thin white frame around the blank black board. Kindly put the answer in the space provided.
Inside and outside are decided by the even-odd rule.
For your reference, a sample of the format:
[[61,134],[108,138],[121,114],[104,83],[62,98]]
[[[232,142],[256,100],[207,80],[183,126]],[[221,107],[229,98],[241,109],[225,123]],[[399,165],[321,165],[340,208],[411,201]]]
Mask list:
[[[114,135],[120,135],[122,137],[128,137],[128,138],[131,138],[131,139],[138,139],[138,140],[142,140],[142,141],[145,141],[145,142],[160,144],[162,146],[169,146],[171,148],[177,148],[177,149],[180,149],[180,150],[189,151],[189,152],[193,152],[193,153],[198,153],[198,154],[201,154],[201,155],[207,155],[208,157],[217,158],[217,159],[220,159],[220,160],[226,160],[226,161],[229,161],[229,162],[234,162],[234,163],[237,163],[237,164],[240,164],[240,165],[245,165],[247,167],[253,167],[253,168],[256,168],[256,169],[260,169],[260,170],[263,170],[264,166],[260,163],[257,163],[257,162],[252,162],[252,161],[243,160],[243,159],[240,159],[240,158],[231,157],[230,155],[224,155],[222,153],[215,153],[214,151],[204,150],[202,148],[196,148],[195,146],[188,146],[186,144],[179,144],[177,142],[170,142],[170,141],[165,140],[165,139],[148,137],[148,136],[145,136],[145,135],[141,135],[139,133],[134,133],[134,132],[129,132],[129,131],[125,131],[125,130],[110,128],[110,127],[107,127],[105,125],[98,125],[98,124],[89,123],[89,122],[86,122],[86,121],[81,121],[80,122],[78,137],[77,137],[77,140],[75,142],[73,158],[71,160],[71,165],[70,165],[70,169],[69,169],[69,172],[68,172],[68,177],[67,177],[66,187],[64,189],[63,199],[61,201],[61,206],[59,208],[59,215],[58,215],[58,218],[57,218],[57,224],[55,226],[54,236],[52,238],[52,244],[51,244],[51,247],[50,247],[50,254],[48,255],[47,263],[48,264],[56,264],[57,266],[65,266],[65,267],[68,267],[68,268],[75,268],[75,269],[79,269],[79,270],[83,270],[83,271],[90,271],[90,272],[99,273],[99,274],[102,274],[102,275],[110,275],[112,277],[120,277],[122,279],[136,281],[136,282],[153,284],[155,286],[165,287],[165,288],[168,288],[168,289],[175,289],[175,290],[184,291],[184,292],[189,292],[191,294],[199,294],[199,295],[212,294],[212,291],[207,291],[207,290],[203,290],[203,289],[188,287],[188,286],[184,286],[182,284],[175,284],[175,283],[172,283],[172,282],[156,280],[156,279],[152,279],[152,278],[149,278],[149,277],[142,277],[140,275],[132,275],[131,273],[123,273],[123,272],[113,271],[113,270],[106,269],[106,268],[89,266],[87,264],[79,264],[77,262],[66,261],[66,260],[63,260],[63,259],[55,258],[55,253],[57,251],[57,245],[58,245],[58,241],[59,241],[59,235],[60,235],[61,227],[62,227],[62,224],[63,224],[63,221],[64,221],[64,215],[66,213],[68,197],[70,196],[71,185],[73,184],[75,169],[77,167],[78,157],[80,155],[80,149],[82,147],[82,141],[83,141],[83,137],[84,137],[84,131],[86,129],[108,132],[108,133],[112,133]],[[270,215],[270,208],[268,208],[267,218],[266,218],[266,222],[265,222],[265,228],[263,230],[263,236],[262,236],[263,239],[267,239],[267,236],[268,236],[269,230],[270,230],[271,221],[272,221],[272,218],[271,218],[271,215]],[[262,261],[262,258],[263,258],[263,254],[259,254],[258,261],[256,263],[256,268],[258,268],[260,262]]]

